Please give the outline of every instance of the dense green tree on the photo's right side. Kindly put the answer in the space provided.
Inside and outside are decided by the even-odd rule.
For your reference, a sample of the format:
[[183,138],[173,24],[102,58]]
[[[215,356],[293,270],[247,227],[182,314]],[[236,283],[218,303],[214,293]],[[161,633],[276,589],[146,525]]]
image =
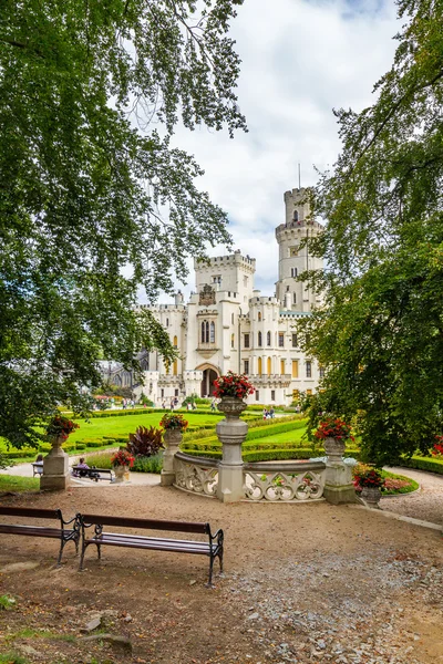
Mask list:
[[443,8],[408,18],[377,102],[338,111],[343,148],[313,193],[324,307],[303,323],[326,377],[311,409],[354,417],[372,460],[425,452],[443,408]]

